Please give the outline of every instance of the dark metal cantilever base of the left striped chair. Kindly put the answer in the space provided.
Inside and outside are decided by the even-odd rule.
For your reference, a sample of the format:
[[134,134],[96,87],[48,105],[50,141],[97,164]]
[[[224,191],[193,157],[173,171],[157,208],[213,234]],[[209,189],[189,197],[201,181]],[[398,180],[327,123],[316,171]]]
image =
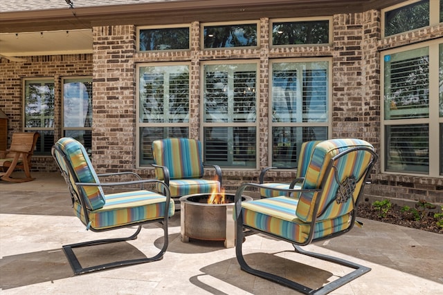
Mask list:
[[[163,244],[163,248],[161,249],[161,251],[159,251],[158,254],[156,254],[155,256],[152,256],[152,257],[138,258],[138,259],[132,259],[132,260],[122,260],[122,261],[116,261],[113,263],[105,263],[102,265],[95,265],[95,266],[91,266],[91,267],[82,267],[82,265],[80,264],[80,261],[78,260],[77,256],[75,256],[75,253],[73,251],[73,248],[109,244],[112,242],[125,242],[127,240],[135,240],[137,238],[138,234],[140,233],[140,231],[141,231],[141,225],[138,225],[137,231],[134,234],[132,234],[132,236],[129,236],[127,238],[108,238],[108,239],[103,239],[103,240],[91,240],[88,242],[79,242],[79,243],[71,244],[71,245],[63,245],[62,247],[63,247],[64,254],[66,255],[66,258],[68,258],[69,264],[71,265],[75,275],[86,274],[88,272],[96,272],[98,270],[103,270],[103,269],[111,269],[113,267],[122,267],[122,266],[126,266],[126,265],[137,265],[137,264],[141,264],[141,263],[150,263],[152,261],[161,260],[163,258],[163,254],[166,251],[166,248],[168,247],[168,242],[165,242]],[[165,234],[167,235],[167,233],[165,233]]]

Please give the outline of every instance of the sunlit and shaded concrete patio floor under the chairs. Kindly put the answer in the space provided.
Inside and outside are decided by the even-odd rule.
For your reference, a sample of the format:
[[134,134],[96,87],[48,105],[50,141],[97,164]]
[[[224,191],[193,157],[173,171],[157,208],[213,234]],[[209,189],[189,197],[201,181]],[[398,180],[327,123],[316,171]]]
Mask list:
[[[235,249],[223,242],[181,242],[180,213],[171,218],[163,260],[74,276],[62,245],[130,236],[135,230],[86,231],[73,216],[60,173],[33,173],[21,184],[0,181],[1,294],[298,294],[243,272]],[[364,220],[344,236],[305,247],[372,268],[332,294],[443,294],[443,235]],[[76,250],[84,265],[113,257],[150,256],[161,247],[161,228],[145,225],[136,240]],[[347,272],[295,254],[287,242],[248,236],[244,254],[309,287]],[[287,258],[288,260],[284,260]]]

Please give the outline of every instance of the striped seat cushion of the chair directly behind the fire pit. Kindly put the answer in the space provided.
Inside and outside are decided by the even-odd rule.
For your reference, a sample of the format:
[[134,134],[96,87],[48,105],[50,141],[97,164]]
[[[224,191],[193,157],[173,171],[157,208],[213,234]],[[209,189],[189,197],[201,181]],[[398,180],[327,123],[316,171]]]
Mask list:
[[[161,191],[161,184],[156,184],[157,191]],[[194,193],[212,193],[220,191],[220,182],[217,180],[183,179],[169,182],[171,197],[191,195]]]

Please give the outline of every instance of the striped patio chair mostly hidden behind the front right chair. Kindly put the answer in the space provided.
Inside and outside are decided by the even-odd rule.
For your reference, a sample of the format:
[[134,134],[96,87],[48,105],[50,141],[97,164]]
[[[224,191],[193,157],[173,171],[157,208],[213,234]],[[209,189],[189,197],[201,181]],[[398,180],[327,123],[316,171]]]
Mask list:
[[[291,183],[280,183],[280,182],[264,182],[264,178],[266,175],[266,172],[271,171],[273,169],[282,169],[278,167],[266,167],[260,172],[259,176],[259,182],[260,184],[263,184],[264,187],[260,189],[260,197],[261,198],[271,198],[271,197],[277,197],[284,195],[284,192],[282,191],[275,191],[272,188],[277,189],[289,189],[293,188],[302,182],[303,178],[305,177],[307,166],[309,165],[309,161],[311,160],[312,153],[314,153],[314,148],[317,144],[319,144],[321,140],[311,140],[309,142],[302,142],[301,148],[300,148],[300,155],[298,156],[297,161],[297,171],[296,171],[296,179],[293,180]],[[287,168],[283,168],[287,169]]]

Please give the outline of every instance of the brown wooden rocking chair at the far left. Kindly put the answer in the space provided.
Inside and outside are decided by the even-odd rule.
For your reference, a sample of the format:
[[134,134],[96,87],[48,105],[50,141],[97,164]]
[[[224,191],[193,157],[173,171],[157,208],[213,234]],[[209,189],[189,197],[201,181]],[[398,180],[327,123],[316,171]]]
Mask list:
[[[6,151],[0,151],[1,180],[9,182],[35,180],[30,176],[30,160],[33,157],[38,137],[39,133],[37,132],[12,133],[10,148]],[[15,169],[23,169],[26,178],[11,178],[10,175]]]

